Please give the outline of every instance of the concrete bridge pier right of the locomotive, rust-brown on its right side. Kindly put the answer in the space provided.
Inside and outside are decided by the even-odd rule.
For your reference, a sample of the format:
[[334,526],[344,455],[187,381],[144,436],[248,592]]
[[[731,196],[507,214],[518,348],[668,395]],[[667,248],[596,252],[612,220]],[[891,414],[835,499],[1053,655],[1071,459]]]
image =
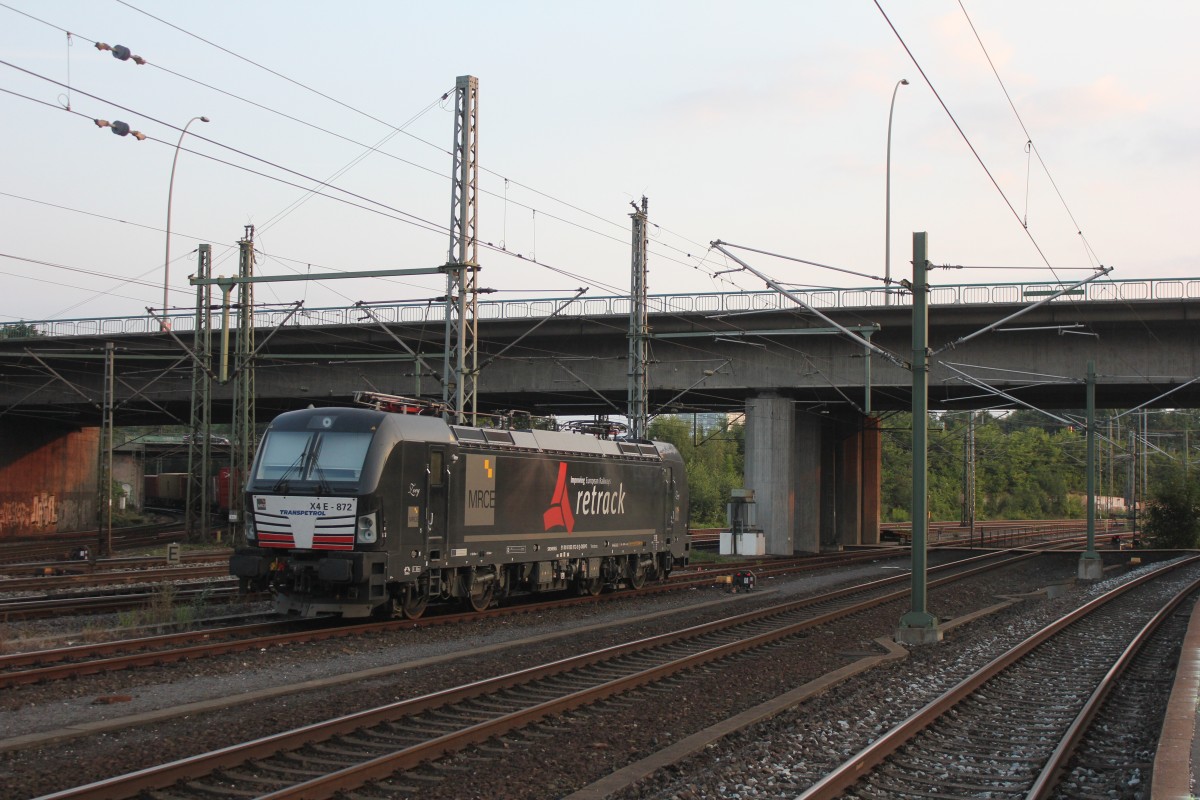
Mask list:
[[767,553],[791,555],[880,541],[878,423],[799,409],[764,393],[746,402],[745,486]]

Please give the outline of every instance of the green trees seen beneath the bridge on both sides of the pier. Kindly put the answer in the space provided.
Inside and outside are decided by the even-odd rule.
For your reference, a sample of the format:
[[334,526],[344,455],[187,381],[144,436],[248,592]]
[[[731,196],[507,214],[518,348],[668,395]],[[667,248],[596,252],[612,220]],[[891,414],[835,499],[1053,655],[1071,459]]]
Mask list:
[[[1085,515],[1081,498],[1086,435],[1081,427],[1032,410],[1002,416],[970,414],[974,420],[977,519],[1057,519]],[[1082,416],[1069,410],[1057,415]],[[970,419],[967,413],[930,415],[929,510],[935,521],[958,521],[961,516],[964,445]],[[1111,431],[1111,443],[1102,441],[1098,447],[1102,458],[1098,494],[1122,493],[1126,465],[1130,463],[1121,461],[1130,456],[1127,434],[1133,429],[1140,435],[1145,427],[1151,445],[1139,446],[1138,458],[1150,459],[1152,491],[1162,486],[1164,501],[1171,500],[1160,513],[1178,507],[1170,469],[1157,465],[1177,464],[1184,475],[1188,473],[1200,456],[1200,411],[1157,411],[1146,420],[1116,417],[1111,423],[1100,414],[1098,420],[1100,433],[1109,435]],[[890,414],[881,420],[880,428],[883,459],[880,516],[883,522],[907,522],[912,505],[912,416]],[[728,431],[697,429],[690,416],[661,416],[650,425],[650,437],[671,441],[683,455],[691,486],[691,524],[724,525],[730,491],[743,485],[743,426],[730,426]],[[1190,471],[1200,474],[1200,468],[1190,467]],[[1105,473],[1114,491],[1105,491]]]

